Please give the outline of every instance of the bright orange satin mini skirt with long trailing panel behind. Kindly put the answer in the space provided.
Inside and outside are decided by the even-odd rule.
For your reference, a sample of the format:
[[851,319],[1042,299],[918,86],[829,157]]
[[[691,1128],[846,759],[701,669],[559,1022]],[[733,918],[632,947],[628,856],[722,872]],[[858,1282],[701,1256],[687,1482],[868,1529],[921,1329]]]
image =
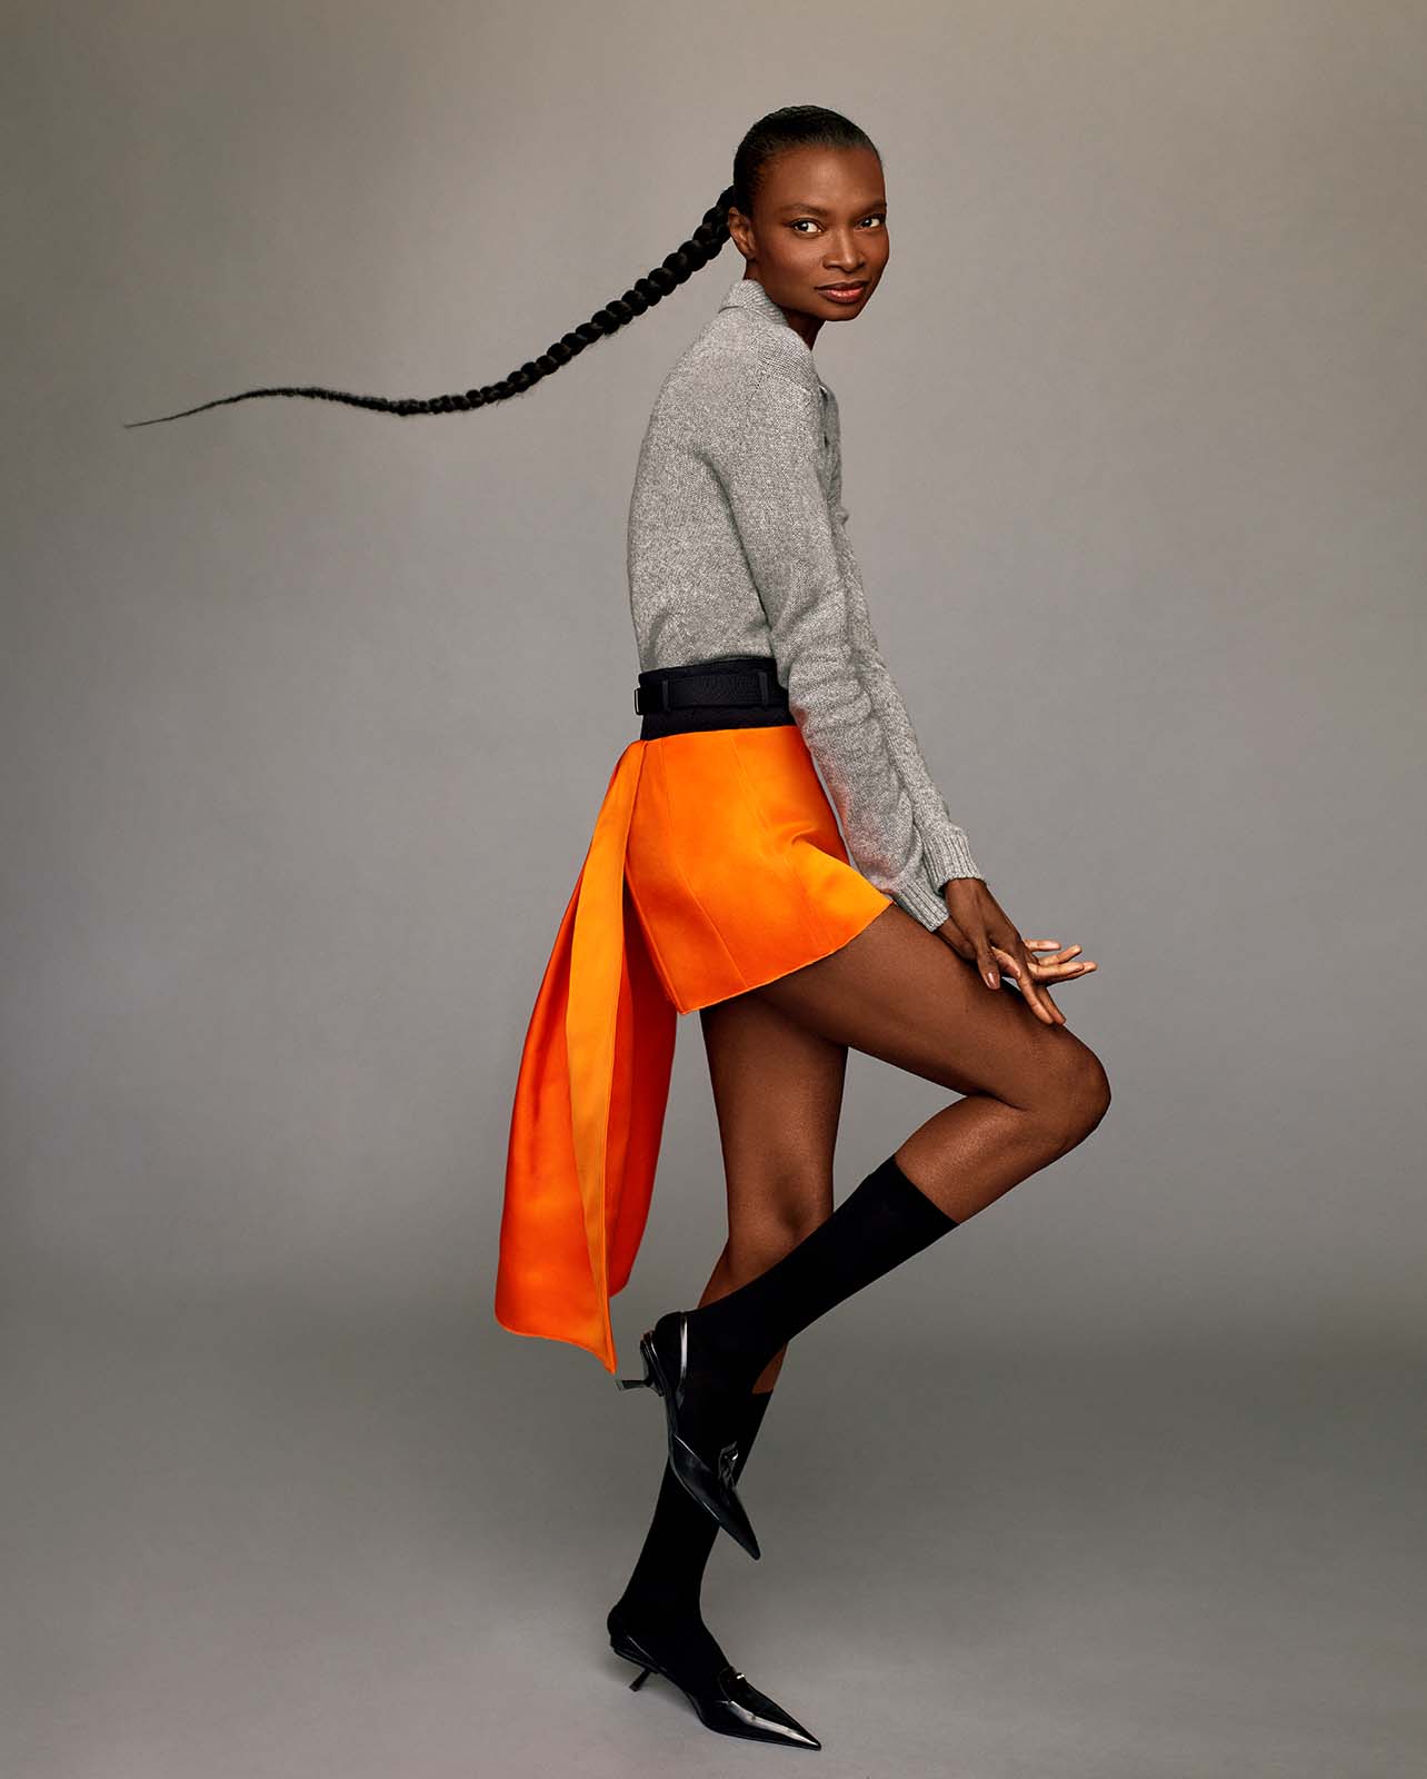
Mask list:
[[495,1318],[617,1370],[678,1014],[838,950],[891,898],[849,861],[797,724],[619,754],[520,1059]]

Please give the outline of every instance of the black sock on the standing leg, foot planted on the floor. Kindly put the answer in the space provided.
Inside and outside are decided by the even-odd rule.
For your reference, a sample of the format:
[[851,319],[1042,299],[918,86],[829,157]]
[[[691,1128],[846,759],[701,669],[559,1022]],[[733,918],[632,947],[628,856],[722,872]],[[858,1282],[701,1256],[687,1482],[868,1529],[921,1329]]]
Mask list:
[[[740,1404],[735,1478],[747,1462],[770,1397],[770,1389],[749,1391]],[[728,1660],[699,1610],[703,1573],[717,1537],[719,1521],[692,1498],[665,1459],[655,1517],[614,1608],[651,1656],[705,1683]]]

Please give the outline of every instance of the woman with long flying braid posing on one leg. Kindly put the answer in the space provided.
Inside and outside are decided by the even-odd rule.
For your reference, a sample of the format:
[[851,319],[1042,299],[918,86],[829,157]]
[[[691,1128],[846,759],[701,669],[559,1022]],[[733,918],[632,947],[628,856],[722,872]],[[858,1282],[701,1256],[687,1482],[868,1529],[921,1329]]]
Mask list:
[[[699,1610],[721,1526],[760,1553],[737,1484],[786,1345],[1057,1160],[1110,1103],[1050,993],[1096,964],[1078,945],[1023,939],[991,895],[883,662],[847,537],[838,402],[813,343],[824,322],[856,320],[886,270],[881,157],[838,112],[770,112],[692,238],[504,382],[434,400],[222,400],[310,395],[391,415],[505,400],[730,238],[742,274],[665,375],[639,452],[641,728],[525,1034],[495,1315],[617,1370],[610,1297],[648,1219],[676,1019],[697,1010],[728,1242],[696,1308],[646,1329],[641,1375],[619,1379],[660,1397],[667,1453],[607,1631],[639,1667],[632,1686],[662,1674],[721,1735],[817,1749]],[[849,1048],[959,1098],[833,1208]]]

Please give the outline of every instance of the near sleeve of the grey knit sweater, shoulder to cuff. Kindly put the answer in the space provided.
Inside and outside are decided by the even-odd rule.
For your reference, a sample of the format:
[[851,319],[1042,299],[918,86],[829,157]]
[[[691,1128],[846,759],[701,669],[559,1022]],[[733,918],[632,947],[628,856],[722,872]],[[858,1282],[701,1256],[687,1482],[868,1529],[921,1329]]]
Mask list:
[[769,372],[721,379],[699,450],[719,480],[772,635],[779,683],[863,875],[936,930],[947,904],[877,704],[818,471],[817,388]]

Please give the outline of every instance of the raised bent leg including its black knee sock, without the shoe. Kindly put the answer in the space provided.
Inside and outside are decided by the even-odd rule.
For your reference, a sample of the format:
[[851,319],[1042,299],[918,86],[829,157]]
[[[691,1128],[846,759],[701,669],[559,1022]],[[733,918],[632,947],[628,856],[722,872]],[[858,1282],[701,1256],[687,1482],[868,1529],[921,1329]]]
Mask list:
[[[829,957],[742,998],[963,1098],[756,1277],[680,1324],[673,1313],[660,1318],[665,1331],[681,1329],[683,1436],[706,1462],[794,1334],[1064,1155],[1110,1103],[1100,1059],[1068,1026],[1041,1023],[1011,987],[988,989],[973,964],[897,904]],[[737,1080],[735,1098],[758,1108],[751,1057]]]

